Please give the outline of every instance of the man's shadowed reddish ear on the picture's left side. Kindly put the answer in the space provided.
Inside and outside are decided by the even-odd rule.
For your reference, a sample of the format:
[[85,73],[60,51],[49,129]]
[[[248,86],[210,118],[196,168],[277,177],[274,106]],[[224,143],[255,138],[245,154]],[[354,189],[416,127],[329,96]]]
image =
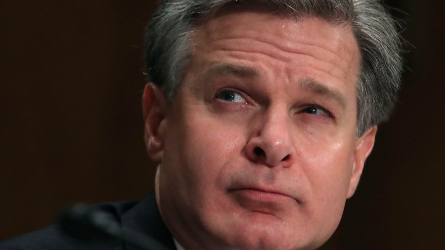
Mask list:
[[165,119],[168,112],[168,101],[164,93],[153,83],[145,85],[142,96],[144,114],[144,139],[151,160],[162,161],[164,153]]

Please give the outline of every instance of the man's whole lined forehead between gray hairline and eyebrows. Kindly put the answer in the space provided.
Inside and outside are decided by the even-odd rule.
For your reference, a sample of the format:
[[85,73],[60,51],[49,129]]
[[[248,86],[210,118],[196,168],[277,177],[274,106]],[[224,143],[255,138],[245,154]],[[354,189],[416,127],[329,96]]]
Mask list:
[[[360,53],[350,25],[310,16],[286,16],[257,5],[226,6],[199,20],[192,43],[192,64],[197,66],[197,61],[205,61],[198,66],[201,69],[219,63],[223,57],[267,61],[271,68],[290,65],[293,74],[296,69],[309,66],[313,72],[318,71],[314,78],[323,73],[318,77],[324,75],[325,81],[316,79],[319,82],[352,82],[355,86],[360,66]],[[302,73],[307,72],[294,75]]]

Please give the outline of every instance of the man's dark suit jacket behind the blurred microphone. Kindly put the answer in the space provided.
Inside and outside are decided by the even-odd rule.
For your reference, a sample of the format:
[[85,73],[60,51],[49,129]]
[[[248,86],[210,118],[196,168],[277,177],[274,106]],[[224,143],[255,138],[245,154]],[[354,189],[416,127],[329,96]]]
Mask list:
[[[169,250],[176,250],[172,235],[156,206],[154,192],[145,200],[98,205],[113,215],[122,228],[149,235]],[[120,240],[83,242],[66,235],[58,224],[0,243],[0,250],[142,250]]]

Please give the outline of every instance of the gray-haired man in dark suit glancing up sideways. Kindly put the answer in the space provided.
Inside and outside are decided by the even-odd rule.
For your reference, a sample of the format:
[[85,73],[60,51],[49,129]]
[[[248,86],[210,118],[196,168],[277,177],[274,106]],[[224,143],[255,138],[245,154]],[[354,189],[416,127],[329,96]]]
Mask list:
[[[155,196],[101,208],[171,249],[326,242],[399,89],[399,38],[382,6],[164,0],[145,41]],[[57,225],[4,246],[135,249],[79,243]]]

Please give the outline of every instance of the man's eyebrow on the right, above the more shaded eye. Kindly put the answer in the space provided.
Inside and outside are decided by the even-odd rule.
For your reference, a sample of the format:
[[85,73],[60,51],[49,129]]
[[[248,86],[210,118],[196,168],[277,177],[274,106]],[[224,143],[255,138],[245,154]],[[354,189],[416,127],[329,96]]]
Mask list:
[[304,79],[300,81],[299,85],[304,90],[334,99],[343,109],[345,109],[348,104],[348,99],[342,92],[338,91],[337,89],[330,88],[323,83],[319,83],[314,79]]

